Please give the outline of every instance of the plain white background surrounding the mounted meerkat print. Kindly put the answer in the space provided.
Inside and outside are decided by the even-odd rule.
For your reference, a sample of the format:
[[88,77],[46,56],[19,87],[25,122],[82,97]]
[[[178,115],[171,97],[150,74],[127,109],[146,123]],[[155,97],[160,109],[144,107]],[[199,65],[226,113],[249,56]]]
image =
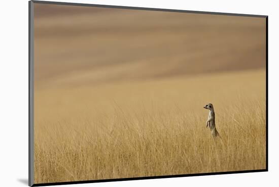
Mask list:
[[[59,0],[58,0],[59,1]],[[66,1],[102,5],[150,7],[193,11],[268,15],[268,136],[269,171],[164,178],[67,186],[278,186],[278,35],[279,12],[276,1],[160,1],[102,0]],[[0,40],[0,186],[27,186],[28,179],[28,1],[1,1]]]

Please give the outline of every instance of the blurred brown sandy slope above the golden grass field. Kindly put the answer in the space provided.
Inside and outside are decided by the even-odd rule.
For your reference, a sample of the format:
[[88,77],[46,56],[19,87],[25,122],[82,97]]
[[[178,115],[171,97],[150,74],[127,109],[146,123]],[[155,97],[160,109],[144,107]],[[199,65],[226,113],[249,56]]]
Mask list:
[[34,33],[40,85],[265,68],[264,18],[35,4]]

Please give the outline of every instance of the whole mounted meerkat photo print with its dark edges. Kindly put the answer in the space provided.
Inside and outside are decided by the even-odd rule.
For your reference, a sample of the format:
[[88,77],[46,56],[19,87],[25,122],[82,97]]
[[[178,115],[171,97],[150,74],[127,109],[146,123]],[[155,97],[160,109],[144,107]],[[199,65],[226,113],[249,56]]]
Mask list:
[[267,171],[267,16],[29,2],[29,185]]

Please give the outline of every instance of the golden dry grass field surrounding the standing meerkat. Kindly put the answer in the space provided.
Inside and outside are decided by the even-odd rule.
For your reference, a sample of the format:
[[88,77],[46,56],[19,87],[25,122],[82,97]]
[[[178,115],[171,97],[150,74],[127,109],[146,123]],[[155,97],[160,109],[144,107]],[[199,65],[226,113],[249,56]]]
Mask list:
[[34,97],[35,183],[265,169],[264,70],[53,84]]

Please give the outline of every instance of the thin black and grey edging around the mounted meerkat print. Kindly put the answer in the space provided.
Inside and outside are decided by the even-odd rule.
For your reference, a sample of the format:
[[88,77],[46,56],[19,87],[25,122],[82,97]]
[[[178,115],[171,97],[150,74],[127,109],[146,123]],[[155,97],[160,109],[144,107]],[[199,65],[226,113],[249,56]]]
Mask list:
[[[117,9],[131,9],[131,10],[149,10],[149,11],[164,11],[164,12],[182,12],[193,14],[212,14],[212,15],[226,15],[226,16],[245,16],[245,17],[259,17],[265,18],[266,24],[266,169],[258,170],[242,170],[242,171],[224,171],[224,172],[211,172],[211,173],[192,173],[180,175],[163,175],[163,176],[145,176],[145,177],[131,177],[131,178],[113,178],[113,179],[98,179],[98,180],[82,180],[82,181],[65,181],[65,182],[49,182],[49,183],[33,183],[33,4],[51,4],[51,5],[70,5],[70,6],[83,6],[83,7],[101,7],[101,8],[117,8]],[[47,185],[62,185],[62,184],[80,184],[80,183],[93,183],[93,182],[111,182],[123,180],[142,180],[142,179],[156,179],[156,178],[173,178],[185,176],[204,176],[204,175],[219,175],[219,174],[233,174],[233,173],[252,173],[268,171],[268,16],[265,15],[250,15],[250,14],[232,14],[232,13],[219,13],[219,12],[202,12],[202,11],[187,11],[187,10],[173,10],[173,9],[157,9],[157,8],[143,8],[143,7],[126,7],[126,6],[112,6],[112,5],[96,5],[96,4],[81,4],[81,3],[66,3],[66,2],[50,2],[50,1],[29,1],[28,2],[28,185],[29,186],[47,186]]]

